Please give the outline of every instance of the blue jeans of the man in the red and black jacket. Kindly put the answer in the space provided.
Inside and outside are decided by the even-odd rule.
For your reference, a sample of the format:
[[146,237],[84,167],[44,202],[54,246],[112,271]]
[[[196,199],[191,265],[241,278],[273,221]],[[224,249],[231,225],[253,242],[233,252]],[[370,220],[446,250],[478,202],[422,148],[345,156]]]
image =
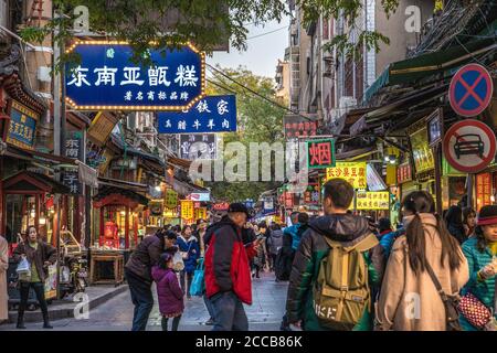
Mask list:
[[218,293],[211,298],[214,309],[212,331],[248,331],[248,320],[243,303],[233,291]]

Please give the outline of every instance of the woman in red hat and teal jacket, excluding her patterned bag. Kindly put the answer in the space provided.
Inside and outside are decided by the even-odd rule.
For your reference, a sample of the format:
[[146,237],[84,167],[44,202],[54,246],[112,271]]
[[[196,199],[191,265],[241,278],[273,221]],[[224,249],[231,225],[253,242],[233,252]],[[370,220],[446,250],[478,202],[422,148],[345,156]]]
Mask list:
[[[463,289],[463,295],[472,293],[485,307],[494,312],[496,301],[497,274],[497,205],[483,206],[478,214],[475,237],[463,244],[463,253],[469,267],[469,281]],[[459,317],[465,331],[476,331],[464,315]],[[495,321],[497,322],[497,321]]]

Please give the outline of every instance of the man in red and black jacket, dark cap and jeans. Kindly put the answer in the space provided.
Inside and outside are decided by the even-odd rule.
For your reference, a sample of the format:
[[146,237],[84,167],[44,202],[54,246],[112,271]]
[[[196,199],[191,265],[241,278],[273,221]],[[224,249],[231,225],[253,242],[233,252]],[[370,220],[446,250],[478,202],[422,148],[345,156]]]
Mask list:
[[242,227],[248,217],[244,204],[233,203],[228,215],[205,232],[205,291],[214,309],[213,331],[247,331],[243,303],[252,304],[248,260],[258,242],[243,244]]

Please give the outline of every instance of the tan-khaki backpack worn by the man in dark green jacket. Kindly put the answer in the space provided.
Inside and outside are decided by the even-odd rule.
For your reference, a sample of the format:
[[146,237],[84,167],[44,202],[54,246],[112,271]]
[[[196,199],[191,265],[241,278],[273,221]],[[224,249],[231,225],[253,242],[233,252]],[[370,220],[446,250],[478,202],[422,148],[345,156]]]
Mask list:
[[319,264],[313,308],[322,328],[352,330],[371,303],[368,264],[363,254],[379,242],[373,234],[350,247],[326,236],[324,239],[330,250]]

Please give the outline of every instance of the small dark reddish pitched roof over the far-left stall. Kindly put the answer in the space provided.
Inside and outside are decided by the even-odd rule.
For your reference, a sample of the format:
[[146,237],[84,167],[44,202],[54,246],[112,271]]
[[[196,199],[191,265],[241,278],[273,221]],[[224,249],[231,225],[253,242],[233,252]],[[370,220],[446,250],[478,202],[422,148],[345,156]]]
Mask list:
[[47,192],[51,194],[70,194],[70,188],[45,174],[21,171],[3,180],[3,190],[11,192]]

